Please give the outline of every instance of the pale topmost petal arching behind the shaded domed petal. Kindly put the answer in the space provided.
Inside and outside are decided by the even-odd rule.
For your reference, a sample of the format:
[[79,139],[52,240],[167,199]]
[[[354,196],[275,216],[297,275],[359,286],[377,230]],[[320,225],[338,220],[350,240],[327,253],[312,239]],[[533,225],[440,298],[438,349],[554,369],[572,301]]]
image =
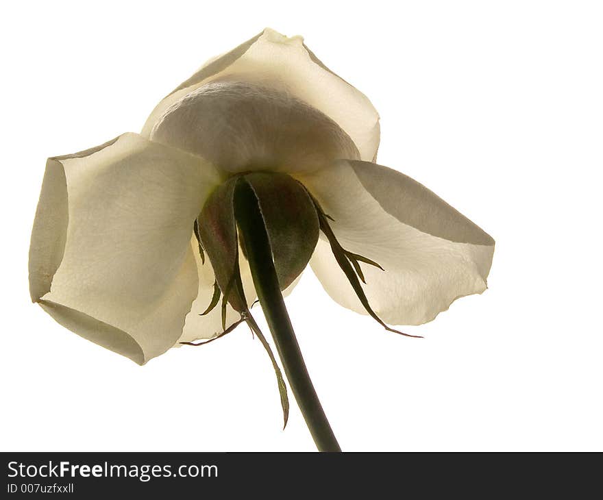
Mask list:
[[191,92],[211,82],[240,82],[284,93],[319,110],[352,138],[362,160],[374,160],[379,115],[369,99],[328,69],[304,40],[272,29],[211,60],[153,110],[143,127],[151,138],[162,116]]

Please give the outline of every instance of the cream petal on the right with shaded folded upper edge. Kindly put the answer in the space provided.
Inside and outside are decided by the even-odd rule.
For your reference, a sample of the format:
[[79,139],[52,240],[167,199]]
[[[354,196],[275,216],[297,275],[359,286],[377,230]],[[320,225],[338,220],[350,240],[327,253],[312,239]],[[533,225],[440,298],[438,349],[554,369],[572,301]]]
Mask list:
[[[426,323],[458,297],[487,288],[494,240],[410,177],[340,161],[300,179],[334,218],[343,248],[385,269],[360,263],[369,303],[386,323]],[[310,265],[335,301],[366,314],[324,239]]]

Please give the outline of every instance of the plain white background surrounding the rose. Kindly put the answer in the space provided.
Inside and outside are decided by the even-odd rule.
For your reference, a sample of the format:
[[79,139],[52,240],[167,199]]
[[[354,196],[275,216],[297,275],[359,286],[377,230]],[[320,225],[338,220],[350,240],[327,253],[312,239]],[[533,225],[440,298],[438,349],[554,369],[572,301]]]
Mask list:
[[[8,5],[8,6],[7,6]],[[204,60],[302,34],[382,117],[378,161],[497,241],[489,290],[385,332],[308,272],[288,299],[343,449],[603,449],[598,2],[29,2],[0,30],[3,451],[312,451],[245,327],[140,367],[27,292],[45,159],[138,132]],[[263,323],[262,323],[263,325]]]

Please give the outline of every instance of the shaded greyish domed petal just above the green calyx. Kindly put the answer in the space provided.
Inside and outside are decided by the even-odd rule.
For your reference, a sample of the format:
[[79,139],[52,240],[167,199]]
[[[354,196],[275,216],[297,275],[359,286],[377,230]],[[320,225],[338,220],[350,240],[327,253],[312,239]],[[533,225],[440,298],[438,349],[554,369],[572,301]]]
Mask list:
[[328,116],[288,93],[247,82],[195,89],[163,114],[150,138],[232,173],[312,171],[337,158],[360,158]]

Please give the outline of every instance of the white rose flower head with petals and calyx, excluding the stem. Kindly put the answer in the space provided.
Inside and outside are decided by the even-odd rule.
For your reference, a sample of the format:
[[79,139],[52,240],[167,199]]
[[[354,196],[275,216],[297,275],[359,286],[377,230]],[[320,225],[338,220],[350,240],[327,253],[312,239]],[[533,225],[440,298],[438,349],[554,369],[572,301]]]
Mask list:
[[[243,182],[258,197],[282,289],[310,262],[346,308],[395,325],[431,321],[487,288],[494,241],[376,164],[379,136],[365,95],[302,38],[265,29],[162,99],[141,134],[48,160],[32,300],[139,364],[219,336],[256,298],[233,215]],[[236,263],[244,294],[233,295]],[[202,314],[225,291],[224,308]]]

